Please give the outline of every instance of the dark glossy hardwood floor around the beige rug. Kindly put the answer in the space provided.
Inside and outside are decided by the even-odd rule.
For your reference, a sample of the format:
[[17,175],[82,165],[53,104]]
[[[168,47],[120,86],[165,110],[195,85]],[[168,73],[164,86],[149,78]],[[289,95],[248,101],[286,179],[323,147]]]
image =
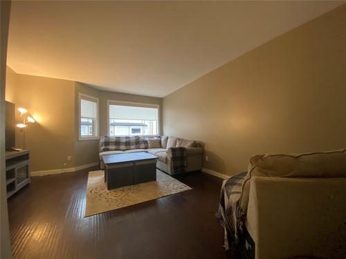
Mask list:
[[8,200],[14,258],[226,258],[221,179],[188,173],[176,178],[192,191],[84,218],[88,171],[34,177]]

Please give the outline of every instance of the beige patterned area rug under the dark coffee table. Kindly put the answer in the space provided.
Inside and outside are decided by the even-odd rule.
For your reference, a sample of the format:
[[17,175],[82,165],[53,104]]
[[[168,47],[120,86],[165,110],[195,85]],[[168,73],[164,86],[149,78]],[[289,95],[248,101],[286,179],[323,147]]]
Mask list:
[[159,170],[156,170],[156,182],[107,190],[104,171],[91,171],[86,185],[85,217],[188,190],[192,188]]

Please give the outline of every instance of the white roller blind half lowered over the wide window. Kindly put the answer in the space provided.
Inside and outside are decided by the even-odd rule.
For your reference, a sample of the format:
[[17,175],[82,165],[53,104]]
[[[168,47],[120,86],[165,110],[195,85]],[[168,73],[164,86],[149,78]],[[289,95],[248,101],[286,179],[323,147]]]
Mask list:
[[158,120],[158,109],[136,106],[109,105],[111,119]]

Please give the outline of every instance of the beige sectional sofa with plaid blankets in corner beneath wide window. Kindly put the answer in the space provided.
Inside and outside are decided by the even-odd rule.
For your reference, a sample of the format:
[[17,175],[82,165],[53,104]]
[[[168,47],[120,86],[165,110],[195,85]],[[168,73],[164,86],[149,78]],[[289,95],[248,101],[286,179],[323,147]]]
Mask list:
[[147,152],[156,155],[156,167],[165,173],[197,171],[202,169],[203,148],[199,142],[179,137],[109,137],[100,138],[100,166],[103,155]]

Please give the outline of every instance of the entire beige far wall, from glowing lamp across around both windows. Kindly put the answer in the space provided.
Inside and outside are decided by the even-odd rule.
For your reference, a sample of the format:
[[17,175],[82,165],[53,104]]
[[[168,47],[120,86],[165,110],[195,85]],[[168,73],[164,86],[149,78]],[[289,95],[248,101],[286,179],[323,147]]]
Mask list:
[[[16,108],[26,108],[37,119],[25,129],[31,171],[67,169],[99,161],[99,140],[78,140],[78,93],[99,98],[100,135],[107,134],[107,99],[159,105],[162,102],[161,98],[113,93],[75,81],[20,75],[9,67],[6,75],[6,100],[15,103]],[[21,122],[19,113],[16,120]],[[19,128],[16,145],[24,147],[24,131]],[[67,161],[69,155],[71,161]]]

